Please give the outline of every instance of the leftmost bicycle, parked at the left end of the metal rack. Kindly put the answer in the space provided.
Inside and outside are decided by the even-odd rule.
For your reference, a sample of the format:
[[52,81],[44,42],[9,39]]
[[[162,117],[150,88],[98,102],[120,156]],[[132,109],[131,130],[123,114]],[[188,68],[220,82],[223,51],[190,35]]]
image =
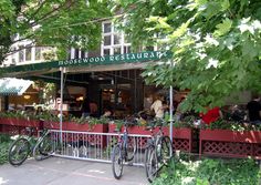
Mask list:
[[36,157],[38,152],[43,156],[49,156],[53,152],[49,130],[44,129],[36,141],[33,136],[33,127],[27,127],[25,131],[29,134],[18,137],[9,148],[8,160],[13,166],[20,166],[30,154],[39,161],[42,158]]

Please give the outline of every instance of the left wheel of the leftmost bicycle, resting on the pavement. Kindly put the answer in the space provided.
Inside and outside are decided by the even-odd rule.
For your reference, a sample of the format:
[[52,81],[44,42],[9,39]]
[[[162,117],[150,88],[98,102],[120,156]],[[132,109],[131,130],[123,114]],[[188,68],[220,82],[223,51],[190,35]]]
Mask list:
[[30,143],[27,138],[18,138],[9,148],[8,160],[13,166],[21,165],[30,153]]

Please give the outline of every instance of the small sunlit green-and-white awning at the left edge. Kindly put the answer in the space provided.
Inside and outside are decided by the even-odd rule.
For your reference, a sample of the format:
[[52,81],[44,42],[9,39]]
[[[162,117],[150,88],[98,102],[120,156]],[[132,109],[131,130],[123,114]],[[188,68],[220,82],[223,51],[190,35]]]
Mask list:
[[33,82],[30,80],[0,79],[0,95],[22,95]]

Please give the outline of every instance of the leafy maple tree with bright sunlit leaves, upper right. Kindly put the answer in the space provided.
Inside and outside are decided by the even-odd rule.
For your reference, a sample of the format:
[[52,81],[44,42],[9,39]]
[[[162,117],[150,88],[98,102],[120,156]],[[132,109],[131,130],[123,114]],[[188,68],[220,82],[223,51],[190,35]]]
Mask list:
[[[148,65],[147,83],[190,90],[182,109],[223,105],[233,92],[261,92],[260,0],[125,0],[134,44],[166,47],[173,59]],[[156,37],[155,37],[156,35]]]

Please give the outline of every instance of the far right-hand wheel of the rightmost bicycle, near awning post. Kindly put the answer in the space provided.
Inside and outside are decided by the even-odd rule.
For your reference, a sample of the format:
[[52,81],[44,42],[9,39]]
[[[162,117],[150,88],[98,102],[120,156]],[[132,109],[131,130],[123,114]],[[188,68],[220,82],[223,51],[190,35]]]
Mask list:
[[161,155],[160,158],[163,160],[164,164],[167,164],[167,162],[173,156],[173,144],[169,136],[161,137],[160,155]]

